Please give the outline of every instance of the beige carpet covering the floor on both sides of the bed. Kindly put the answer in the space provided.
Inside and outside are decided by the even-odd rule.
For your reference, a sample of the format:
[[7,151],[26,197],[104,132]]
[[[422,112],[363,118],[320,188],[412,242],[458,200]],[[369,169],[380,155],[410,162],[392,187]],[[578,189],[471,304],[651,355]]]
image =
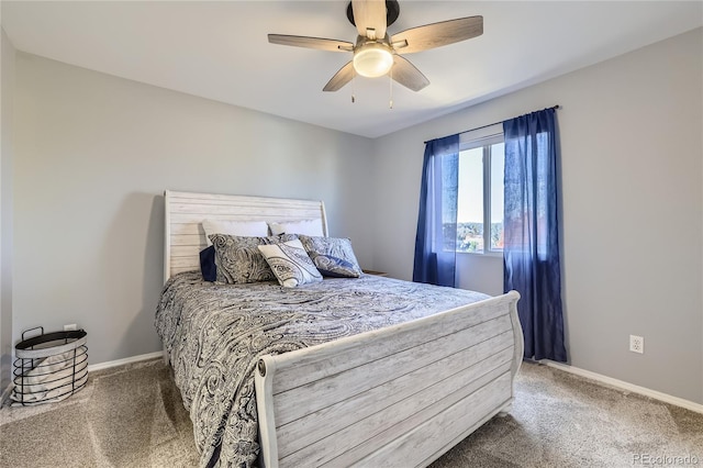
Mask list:
[[[62,403],[0,409],[1,467],[194,467],[160,360],[92,372]],[[703,466],[703,414],[524,364],[516,400],[432,468]]]

